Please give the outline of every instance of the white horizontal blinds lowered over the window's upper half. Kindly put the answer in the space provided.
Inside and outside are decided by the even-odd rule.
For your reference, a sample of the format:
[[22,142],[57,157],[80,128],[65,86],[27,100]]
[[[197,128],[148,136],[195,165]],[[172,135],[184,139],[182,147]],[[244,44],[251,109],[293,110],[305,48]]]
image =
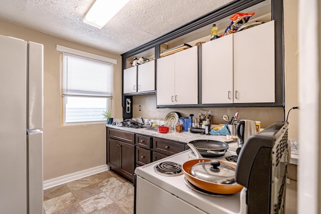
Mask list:
[[113,64],[62,53],[62,95],[113,96]]

